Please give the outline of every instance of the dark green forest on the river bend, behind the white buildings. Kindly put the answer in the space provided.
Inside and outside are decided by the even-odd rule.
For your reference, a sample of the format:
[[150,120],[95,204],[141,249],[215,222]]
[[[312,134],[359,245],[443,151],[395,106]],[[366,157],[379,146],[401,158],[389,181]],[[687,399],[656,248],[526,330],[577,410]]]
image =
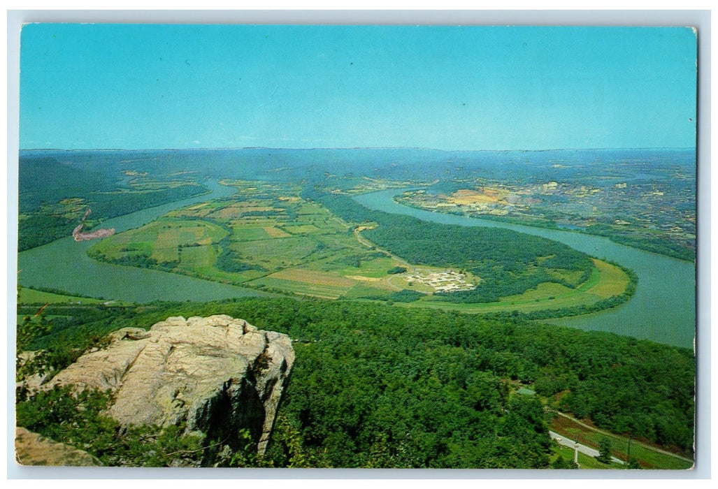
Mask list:
[[[588,279],[593,267],[588,255],[543,237],[498,227],[437,224],[371,211],[348,196],[326,194],[316,188],[304,189],[302,196],[320,202],[345,221],[375,222],[378,225],[365,229],[363,235],[404,260],[417,265],[459,267],[481,277],[474,290],[437,295],[442,300],[494,302],[546,282],[575,288]],[[549,270],[580,275],[569,281]]]

